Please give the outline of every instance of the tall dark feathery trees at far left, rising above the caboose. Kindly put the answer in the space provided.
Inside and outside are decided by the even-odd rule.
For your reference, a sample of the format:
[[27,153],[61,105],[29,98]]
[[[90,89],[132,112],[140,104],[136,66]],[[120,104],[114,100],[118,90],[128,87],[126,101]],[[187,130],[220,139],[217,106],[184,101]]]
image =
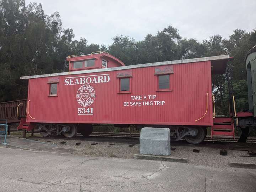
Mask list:
[[0,16],[0,101],[26,98],[20,76],[63,71],[73,30],[62,28],[58,12],[45,15],[41,4],[24,0],[1,0]]

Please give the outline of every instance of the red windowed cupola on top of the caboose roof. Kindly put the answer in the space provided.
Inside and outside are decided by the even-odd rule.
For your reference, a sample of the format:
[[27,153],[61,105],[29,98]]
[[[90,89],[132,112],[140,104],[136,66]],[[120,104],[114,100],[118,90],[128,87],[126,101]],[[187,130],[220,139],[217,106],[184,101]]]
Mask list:
[[89,55],[71,55],[66,60],[69,61],[69,71],[125,66],[119,59],[104,51],[92,52]]

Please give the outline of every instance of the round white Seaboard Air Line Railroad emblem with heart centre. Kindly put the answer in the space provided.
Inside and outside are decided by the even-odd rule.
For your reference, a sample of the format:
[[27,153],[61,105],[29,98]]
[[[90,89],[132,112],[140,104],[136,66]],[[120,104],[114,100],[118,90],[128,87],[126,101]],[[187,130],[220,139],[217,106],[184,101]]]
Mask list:
[[91,85],[82,85],[76,93],[76,100],[82,107],[90,106],[95,100],[95,91]]

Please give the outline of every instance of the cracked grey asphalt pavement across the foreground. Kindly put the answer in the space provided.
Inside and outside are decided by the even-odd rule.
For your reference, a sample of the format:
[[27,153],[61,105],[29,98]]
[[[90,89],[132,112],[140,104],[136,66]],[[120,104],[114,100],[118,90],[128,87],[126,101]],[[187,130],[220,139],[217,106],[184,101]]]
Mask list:
[[0,191],[256,191],[256,170],[0,147]]

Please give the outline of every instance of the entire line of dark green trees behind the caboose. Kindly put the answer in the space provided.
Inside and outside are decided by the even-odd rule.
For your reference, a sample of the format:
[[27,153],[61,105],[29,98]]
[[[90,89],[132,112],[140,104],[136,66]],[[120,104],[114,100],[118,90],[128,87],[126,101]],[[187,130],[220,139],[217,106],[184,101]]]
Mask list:
[[[246,52],[256,45],[256,29],[236,29],[228,39],[213,35],[202,43],[182,38],[171,25],[142,41],[117,35],[109,46],[88,44],[86,38],[73,40],[73,30],[64,29],[59,13],[44,14],[41,4],[25,0],[0,0],[0,101],[26,98],[27,81],[20,76],[56,73],[68,70],[68,55],[84,55],[104,50],[126,65],[162,62],[230,54],[229,75],[238,109],[246,108]],[[213,94],[220,113],[227,111],[228,86],[224,74],[212,76]],[[242,90],[239,92],[238,89]]]

